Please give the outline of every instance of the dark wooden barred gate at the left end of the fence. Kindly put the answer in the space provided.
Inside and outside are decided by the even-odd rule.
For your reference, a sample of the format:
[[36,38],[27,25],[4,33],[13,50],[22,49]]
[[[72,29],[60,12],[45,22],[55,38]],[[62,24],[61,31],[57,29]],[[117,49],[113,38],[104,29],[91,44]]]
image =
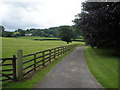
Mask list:
[[0,59],[0,81],[16,80],[16,56]]

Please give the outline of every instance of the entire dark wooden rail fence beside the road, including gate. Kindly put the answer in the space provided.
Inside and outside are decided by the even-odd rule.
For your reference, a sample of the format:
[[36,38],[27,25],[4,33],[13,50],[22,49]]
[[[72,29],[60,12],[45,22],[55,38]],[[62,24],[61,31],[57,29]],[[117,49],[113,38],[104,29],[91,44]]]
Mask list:
[[0,67],[2,67],[0,72],[2,78],[0,81],[21,81],[32,71],[36,71],[39,67],[45,67],[47,64],[51,63],[53,60],[56,60],[56,58],[76,46],[78,46],[78,44],[56,47],[28,55],[23,55],[23,51],[18,50],[17,57],[13,55],[12,58],[0,59]]

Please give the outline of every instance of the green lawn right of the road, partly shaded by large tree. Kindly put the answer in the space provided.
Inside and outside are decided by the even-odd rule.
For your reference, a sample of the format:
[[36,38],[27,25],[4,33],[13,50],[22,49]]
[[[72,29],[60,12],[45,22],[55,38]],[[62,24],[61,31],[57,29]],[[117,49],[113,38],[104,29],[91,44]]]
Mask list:
[[118,58],[114,50],[85,48],[85,56],[90,71],[105,88],[118,88]]

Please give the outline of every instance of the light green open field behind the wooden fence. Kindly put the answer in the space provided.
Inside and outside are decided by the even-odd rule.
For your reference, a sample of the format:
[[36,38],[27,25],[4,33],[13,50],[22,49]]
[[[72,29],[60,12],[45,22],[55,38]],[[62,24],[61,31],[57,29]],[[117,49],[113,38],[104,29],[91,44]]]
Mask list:
[[[38,38],[38,37],[30,37]],[[58,46],[70,45],[70,44],[84,44],[83,42],[73,42],[66,44],[64,41],[34,41],[28,37],[20,38],[2,38],[2,57],[12,57],[16,55],[17,50],[23,50],[24,54],[31,54],[37,51],[55,48]],[[41,37],[39,37],[41,38]]]

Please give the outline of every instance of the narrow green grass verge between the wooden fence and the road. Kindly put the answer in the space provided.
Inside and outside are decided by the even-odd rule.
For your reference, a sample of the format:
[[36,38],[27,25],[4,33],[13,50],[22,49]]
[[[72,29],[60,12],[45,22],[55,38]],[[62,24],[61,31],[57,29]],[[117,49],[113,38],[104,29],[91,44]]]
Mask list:
[[43,80],[43,77],[58,63],[60,62],[65,56],[70,54],[74,49],[70,50],[69,52],[65,53],[64,55],[60,56],[57,60],[49,64],[43,70],[34,74],[34,76],[28,80],[22,82],[11,82],[8,83],[7,86],[3,88],[33,88],[38,82]]

